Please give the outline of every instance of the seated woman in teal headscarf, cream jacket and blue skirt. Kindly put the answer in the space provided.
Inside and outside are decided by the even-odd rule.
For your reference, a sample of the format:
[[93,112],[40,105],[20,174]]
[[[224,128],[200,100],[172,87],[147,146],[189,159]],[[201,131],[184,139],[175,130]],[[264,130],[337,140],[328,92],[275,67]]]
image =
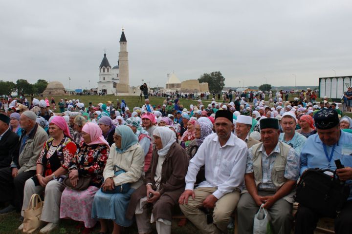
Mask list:
[[[132,193],[141,185],[139,178],[143,172],[143,150],[138,144],[138,138],[131,128],[122,125],[115,128],[115,143],[110,149],[109,158],[104,169],[104,183],[95,194],[92,218],[99,218],[100,233],[107,233],[106,219],[113,220],[113,234],[120,233],[120,227],[129,227],[133,221],[126,219],[125,211]],[[131,188],[126,193],[120,193],[123,186]]]

